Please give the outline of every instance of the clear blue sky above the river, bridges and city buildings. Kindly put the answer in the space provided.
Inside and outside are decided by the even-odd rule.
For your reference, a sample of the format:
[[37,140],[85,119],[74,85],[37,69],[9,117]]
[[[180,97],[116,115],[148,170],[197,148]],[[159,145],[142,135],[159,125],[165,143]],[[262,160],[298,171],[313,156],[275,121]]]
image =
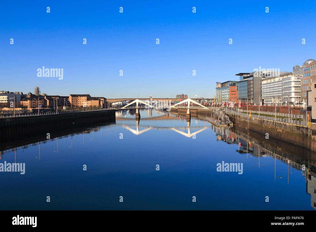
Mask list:
[[[315,12],[300,1],[2,1],[0,90],[210,98],[237,73],[316,59]],[[64,79],[37,77],[42,66]]]

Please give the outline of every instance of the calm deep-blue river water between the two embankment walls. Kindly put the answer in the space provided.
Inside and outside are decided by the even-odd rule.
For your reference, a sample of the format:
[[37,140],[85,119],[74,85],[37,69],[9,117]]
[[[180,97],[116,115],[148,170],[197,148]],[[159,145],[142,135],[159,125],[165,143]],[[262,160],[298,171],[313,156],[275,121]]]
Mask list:
[[24,175],[0,172],[0,209],[316,209],[314,152],[205,116],[116,114],[112,124],[0,149],[0,163],[25,163]]

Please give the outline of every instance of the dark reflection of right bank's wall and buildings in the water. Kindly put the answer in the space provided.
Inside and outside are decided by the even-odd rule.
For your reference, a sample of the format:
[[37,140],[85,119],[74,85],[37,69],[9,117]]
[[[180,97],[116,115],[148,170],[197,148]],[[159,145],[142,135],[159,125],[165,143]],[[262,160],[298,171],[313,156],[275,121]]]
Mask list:
[[[237,127],[236,127],[237,128]],[[280,160],[288,165],[288,184],[292,168],[302,171],[302,175],[306,179],[306,192],[311,195],[311,206],[316,210],[316,154],[307,148],[299,147],[294,144],[289,144],[280,140],[263,140],[262,134],[248,131],[244,128],[216,128],[217,141],[224,141],[227,144],[238,145],[238,150],[241,154],[248,153],[252,157],[258,157],[258,167],[260,167],[260,158],[272,157],[274,158],[274,178],[277,178],[276,160]],[[213,130],[213,127],[212,127]],[[302,170],[302,165],[306,166]]]

